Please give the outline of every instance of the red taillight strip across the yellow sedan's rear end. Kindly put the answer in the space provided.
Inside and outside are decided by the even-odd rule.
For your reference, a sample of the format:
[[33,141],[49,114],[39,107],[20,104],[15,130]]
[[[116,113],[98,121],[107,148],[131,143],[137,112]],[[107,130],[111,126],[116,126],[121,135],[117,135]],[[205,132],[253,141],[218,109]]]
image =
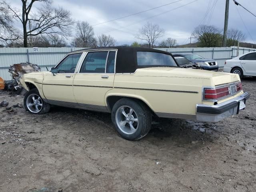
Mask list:
[[204,88],[204,99],[205,100],[218,100],[226,96],[231,96],[242,90],[242,83],[228,84],[220,88]]

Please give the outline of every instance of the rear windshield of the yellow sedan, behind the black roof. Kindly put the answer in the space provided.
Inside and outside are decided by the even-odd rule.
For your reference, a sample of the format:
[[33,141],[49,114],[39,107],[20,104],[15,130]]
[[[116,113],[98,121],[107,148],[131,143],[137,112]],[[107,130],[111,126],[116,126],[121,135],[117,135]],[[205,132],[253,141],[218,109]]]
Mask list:
[[146,51],[137,52],[137,63],[138,63],[138,67],[177,66],[176,62],[170,55],[167,55],[164,53],[146,52]]

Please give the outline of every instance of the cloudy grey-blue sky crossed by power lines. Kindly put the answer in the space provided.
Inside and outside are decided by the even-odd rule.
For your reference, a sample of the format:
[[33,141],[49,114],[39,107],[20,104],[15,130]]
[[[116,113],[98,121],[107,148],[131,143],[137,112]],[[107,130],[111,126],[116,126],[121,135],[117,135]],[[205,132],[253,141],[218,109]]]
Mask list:
[[[53,6],[62,6],[69,10],[74,20],[87,21],[90,23],[90,25],[94,25],[175,1],[177,0],[53,0]],[[149,21],[158,24],[165,30],[164,36],[159,39],[158,42],[171,37],[177,39],[178,44],[186,44],[189,42],[188,37],[190,37],[190,34],[194,28],[199,24],[210,24],[219,28],[224,28],[225,0],[193,1],[194,0],[181,0],[180,2],[143,12],[141,14],[96,25],[93,26],[94,33],[96,35],[102,33],[106,35],[110,34],[118,41],[118,45],[131,44],[134,41],[142,43],[140,40],[134,38],[134,34],[136,34],[138,29]],[[248,8],[248,10],[256,14],[256,0],[237,1],[244,7]],[[20,6],[21,4],[20,0],[9,0],[9,2],[16,7]],[[190,2],[192,3],[188,4]],[[40,6],[40,4],[42,3],[36,2],[34,6]],[[246,27],[242,23],[237,9],[240,12],[244,24],[252,37],[250,37]],[[166,13],[161,14],[163,12]],[[157,14],[160,15],[121,28]],[[255,24],[256,17],[244,10],[241,6],[236,6],[233,0],[230,0],[228,28],[238,28],[242,30],[242,32],[246,34],[246,42],[256,43]],[[113,30],[116,28],[120,29]],[[106,32],[109,30],[113,31]],[[194,40],[192,40],[192,42],[193,41]]]

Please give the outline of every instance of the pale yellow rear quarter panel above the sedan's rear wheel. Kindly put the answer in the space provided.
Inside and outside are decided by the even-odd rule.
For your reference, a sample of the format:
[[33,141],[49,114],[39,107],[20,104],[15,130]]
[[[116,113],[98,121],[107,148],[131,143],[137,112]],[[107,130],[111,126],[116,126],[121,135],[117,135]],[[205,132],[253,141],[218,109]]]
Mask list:
[[196,114],[196,104],[202,103],[205,79],[139,76],[116,74],[111,95],[129,96],[143,100],[154,112]]

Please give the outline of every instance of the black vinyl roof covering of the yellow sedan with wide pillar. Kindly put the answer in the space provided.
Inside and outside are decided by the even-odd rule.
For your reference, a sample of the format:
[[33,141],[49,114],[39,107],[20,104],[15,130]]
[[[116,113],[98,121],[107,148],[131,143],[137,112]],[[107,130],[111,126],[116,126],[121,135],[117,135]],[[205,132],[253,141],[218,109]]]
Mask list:
[[86,50],[103,50],[103,49],[117,49],[117,56],[116,56],[116,73],[133,73],[138,68],[137,64],[137,52],[138,51],[145,51],[145,52],[157,52],[163,53],[172,56],[171,53],[151,49],[151,48],[142,48],[142,47],[125,47],[125,46],[115,46],[115,47],[97,47],[97,48],[86,48],[77,51],[86,51]]

